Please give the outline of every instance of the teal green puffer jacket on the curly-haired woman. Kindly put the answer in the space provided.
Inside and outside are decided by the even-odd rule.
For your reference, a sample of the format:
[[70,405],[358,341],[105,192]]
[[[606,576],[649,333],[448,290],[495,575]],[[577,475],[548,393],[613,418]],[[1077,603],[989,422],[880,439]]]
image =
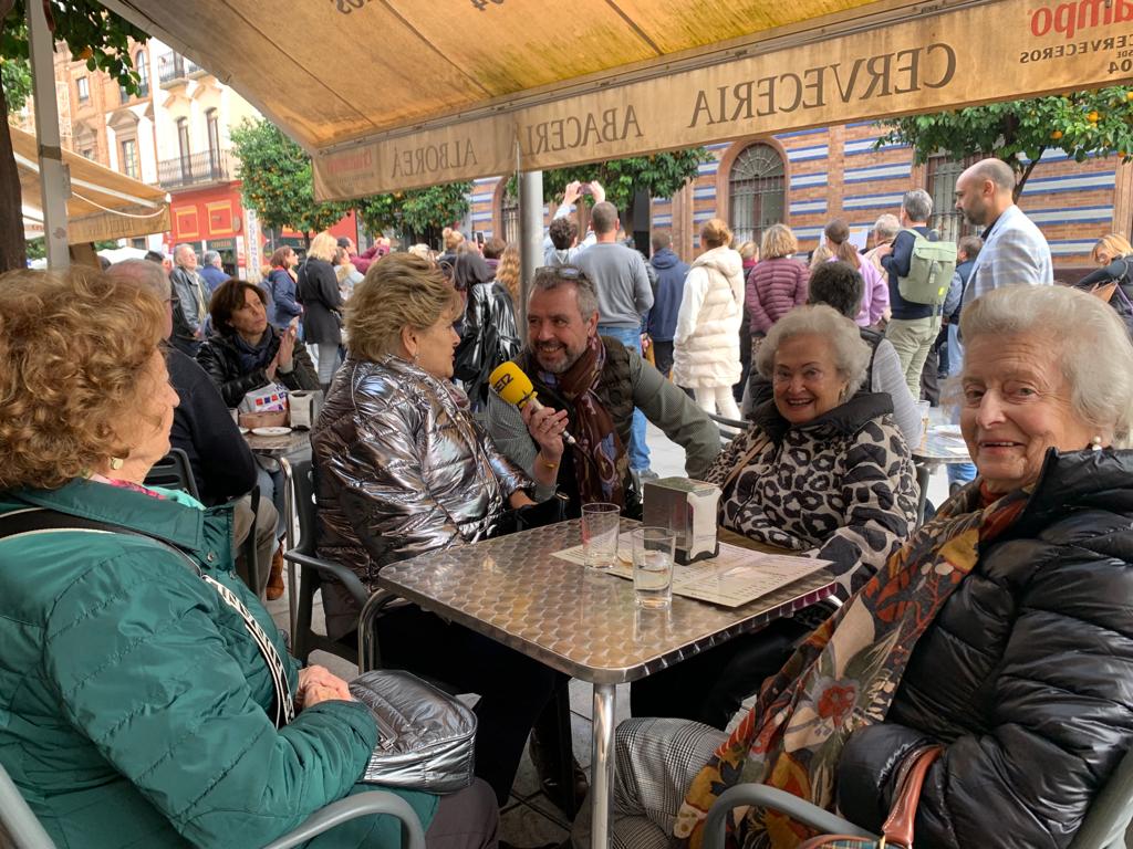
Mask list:
[[[160,537],[240,595],[231,514],[75,480],[0,494]],[[0,540],[0,762],[60,849],[271,842],[356,784],[377,729],[358,703],[323,702],[276,730],[271,676],[239,616],[174,552],[99,531]],[[436,797],[402,792],[427,827]],[[310,846],[399,844],[368,817]]]

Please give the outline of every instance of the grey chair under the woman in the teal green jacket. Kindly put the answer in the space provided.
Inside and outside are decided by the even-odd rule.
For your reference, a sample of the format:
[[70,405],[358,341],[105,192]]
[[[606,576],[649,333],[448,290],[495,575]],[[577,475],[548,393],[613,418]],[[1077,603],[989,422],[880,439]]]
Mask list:
[[[333,801],[316,811],[306,822],[264,849],[290,849],[301,846],[324,831],[348,820],[373,814],[387,814],[401,822],[402,849],[425,849],[425,830],[404,799],[393,794],[372,790]],[[0,765],[0,846],[11,849],[56,849],[48,832],[35,818],[19,789]]]

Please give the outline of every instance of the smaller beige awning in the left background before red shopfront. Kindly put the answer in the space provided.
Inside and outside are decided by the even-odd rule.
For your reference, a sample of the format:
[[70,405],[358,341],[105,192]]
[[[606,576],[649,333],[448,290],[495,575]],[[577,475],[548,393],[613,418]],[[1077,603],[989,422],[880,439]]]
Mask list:
[[[24,197],[24,232],[43,235],[40,163],[35,136],[8,128]],[[71,196],[67,201],[67,237],[73,245],[104,239],[125,239],[169,230],[165,192],[103,168],[70,151],[63,151],[70,170]]]

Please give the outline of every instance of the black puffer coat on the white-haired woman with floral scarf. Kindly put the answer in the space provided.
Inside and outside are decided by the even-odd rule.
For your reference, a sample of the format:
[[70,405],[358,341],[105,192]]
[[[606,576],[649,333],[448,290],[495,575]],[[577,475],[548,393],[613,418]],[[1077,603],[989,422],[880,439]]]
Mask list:
[[1065,847],[1133,743],[1133,451],[1050,452],[913,650],[886,721],[851,736],[838,805],[879,831],[894,770],[945,744],[919,849]]

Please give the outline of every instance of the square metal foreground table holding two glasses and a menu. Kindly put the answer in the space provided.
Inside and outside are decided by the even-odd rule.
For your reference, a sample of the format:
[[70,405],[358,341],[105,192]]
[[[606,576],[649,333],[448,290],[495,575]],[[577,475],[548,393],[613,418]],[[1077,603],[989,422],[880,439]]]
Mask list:
[[[638,525],[623,518],[621,531]],[[670,610],[642,610],[633,602],[631,581],[552,557],[580,539],[578,520],[562,522],[391,564],[377,583],[594,685],[591,846],[604,849],[614,786],[615,685],[790,616],[830,595],[835,583],[824,569],[738,608],[674,595]]]

